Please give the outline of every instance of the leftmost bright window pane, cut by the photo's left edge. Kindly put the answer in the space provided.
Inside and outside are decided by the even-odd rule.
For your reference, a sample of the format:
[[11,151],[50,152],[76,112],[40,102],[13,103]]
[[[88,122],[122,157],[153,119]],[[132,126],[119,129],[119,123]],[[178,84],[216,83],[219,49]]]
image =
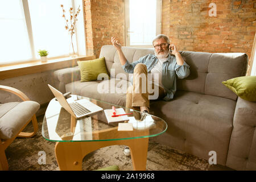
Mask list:
[[0,64],[31,59],[22,1],[0,1]]

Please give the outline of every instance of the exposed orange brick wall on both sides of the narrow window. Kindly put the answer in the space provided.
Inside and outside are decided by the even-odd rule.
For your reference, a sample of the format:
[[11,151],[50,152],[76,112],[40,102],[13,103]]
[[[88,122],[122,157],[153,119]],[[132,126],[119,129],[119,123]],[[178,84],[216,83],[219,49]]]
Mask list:
[[[217,16],[209,16],[210,3]],[[123,0],[84,0],[86,49],[100,49],[116,36],[125,42]],[[255,0],[163,0],[162,34],[179,50],[201,52],[246,52],[250,57],[256,31]]]

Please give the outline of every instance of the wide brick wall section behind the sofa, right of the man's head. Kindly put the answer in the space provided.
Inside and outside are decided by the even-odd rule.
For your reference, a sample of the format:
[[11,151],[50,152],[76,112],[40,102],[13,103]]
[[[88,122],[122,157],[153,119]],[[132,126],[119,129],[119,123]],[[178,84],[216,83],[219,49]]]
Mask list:
[[[217,16],[209,16],[210,3]],[[254,0],[163,0],[162,33],[179,50],[246,52],[250,57],[256,30]]]

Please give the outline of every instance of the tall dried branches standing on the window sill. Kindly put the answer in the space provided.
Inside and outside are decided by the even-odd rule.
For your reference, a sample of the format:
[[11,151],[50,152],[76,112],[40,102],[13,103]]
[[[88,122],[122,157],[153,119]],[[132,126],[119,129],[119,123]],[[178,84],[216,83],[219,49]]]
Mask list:
[[75,25],[76,25],[76,22],[78,20],[77,16],[80,13],[80,5],[77,8],[76,12],[73,10],[73,7],[69,8],[69,18],[66,17],[66,15],[65,15],[66,11],[64,10],[63,5],[60,5],[60,7],[63,10],[63,15],[62,16],[65,20],[65,29],[68,30],[69,35],[71,36],[71,47],[72,47],[73,55],[75,55],[75,49],[74,49],[74,45],[73,45],[73,35],[75,34]]

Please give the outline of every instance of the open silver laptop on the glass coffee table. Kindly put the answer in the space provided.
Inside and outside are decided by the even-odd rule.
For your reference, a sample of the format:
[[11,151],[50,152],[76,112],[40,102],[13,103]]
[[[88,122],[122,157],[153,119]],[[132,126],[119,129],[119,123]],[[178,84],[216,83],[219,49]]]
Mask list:
[[68,101],[63,96],[63,93],[61,93],[59,90],[55,89],[53,86],[49,85],[49,88],[51,89],[53,95],[57,98],[60,105],[67,110],[73,117],[75,118],[81,118],[85,115],[89,115],[92,113],[96,113],[98,111],[103,110],[100,106],[97,106],[96,104],[93,104],[86,98],[77,100],[72,103],[68,103]]

